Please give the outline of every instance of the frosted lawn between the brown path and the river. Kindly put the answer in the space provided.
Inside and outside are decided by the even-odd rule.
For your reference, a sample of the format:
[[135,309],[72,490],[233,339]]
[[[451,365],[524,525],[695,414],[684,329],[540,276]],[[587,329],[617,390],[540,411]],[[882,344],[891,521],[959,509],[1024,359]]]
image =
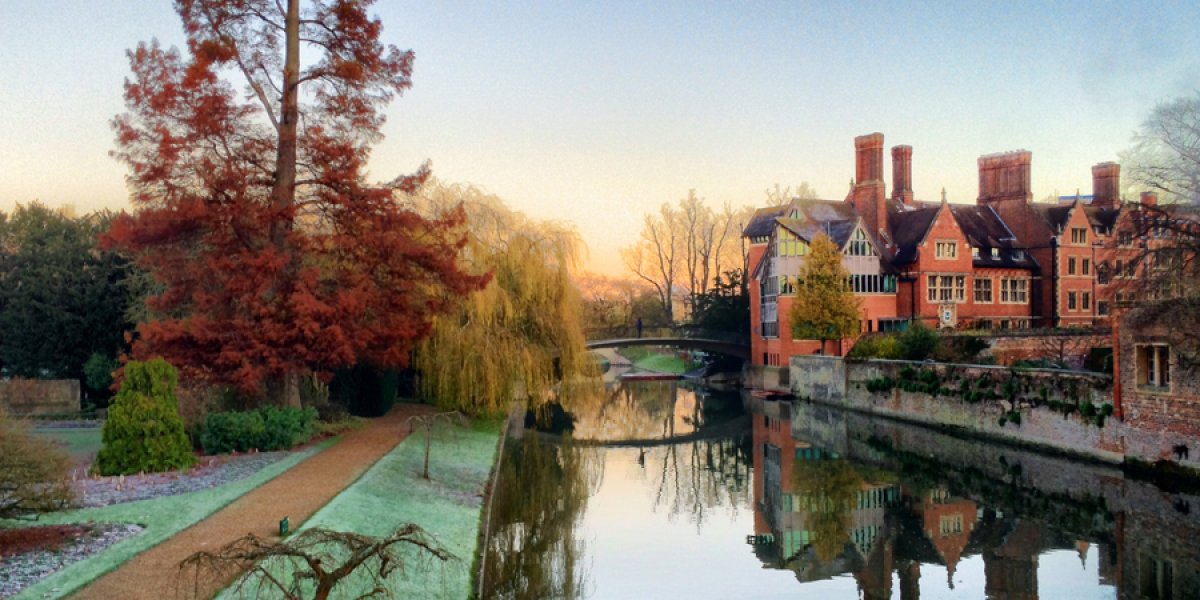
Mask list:
[[[448,563],[413,559],[406,550],[409,562],[403,572],[388,578],[392,596],[469,598],[470,569],[478,551],[482,512],[481,494],[496,461],[499,434],[500,424],[494,421],[473,424],[469,428],[444,427],[434,434],[431,479],[425,480],[420,476],[425,438],[414,433],[314,514],[301,529],[323,527],[386,536],[402,524],[416,523],[457,559]],[[334,594],[356,598],[371,589],[368,581],[352,575],[334,588]],[[246,592],[252,593],[251,587]],[[239,598],[239,594],[230,588],[220,598]],[[258,594],[257,598],[275,596]]]

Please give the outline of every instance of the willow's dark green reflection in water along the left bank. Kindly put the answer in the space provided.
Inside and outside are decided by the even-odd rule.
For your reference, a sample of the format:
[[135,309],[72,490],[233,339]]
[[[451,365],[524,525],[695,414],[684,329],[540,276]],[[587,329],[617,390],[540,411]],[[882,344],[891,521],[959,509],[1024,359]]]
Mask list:
[[589,450],[511,440],[492,496],[484,564],[490,599],[583,598],[586,564],[577,526],[601,473]]

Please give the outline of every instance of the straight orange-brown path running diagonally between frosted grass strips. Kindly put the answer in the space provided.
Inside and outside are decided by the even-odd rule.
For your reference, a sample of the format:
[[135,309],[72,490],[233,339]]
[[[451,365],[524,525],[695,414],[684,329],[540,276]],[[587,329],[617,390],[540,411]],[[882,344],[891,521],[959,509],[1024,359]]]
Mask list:
[[[293,528],[300,526],[408,436],[406,419],[432,412],[427,406],[397,404],[386,416],[347,433],[331,448],[97,578],[74,598],[192,598],[194,577],[182,581],[181,560],[202,550],[216,550],[247,533],[274,536],[284,515]],[[197,598],[210,598],[227,584],[229,581],[202,582]]]

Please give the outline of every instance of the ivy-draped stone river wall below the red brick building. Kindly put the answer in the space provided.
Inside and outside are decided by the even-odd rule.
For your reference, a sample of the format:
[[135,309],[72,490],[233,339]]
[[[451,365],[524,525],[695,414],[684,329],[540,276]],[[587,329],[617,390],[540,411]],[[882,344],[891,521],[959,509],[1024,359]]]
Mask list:
[[1200,456],[1187,451],[1194,439],[1114,415],[1109,376],[792,356],[786,380],[803,400],[1042,452],[1127,468],[1153,464],[1200,478]]

